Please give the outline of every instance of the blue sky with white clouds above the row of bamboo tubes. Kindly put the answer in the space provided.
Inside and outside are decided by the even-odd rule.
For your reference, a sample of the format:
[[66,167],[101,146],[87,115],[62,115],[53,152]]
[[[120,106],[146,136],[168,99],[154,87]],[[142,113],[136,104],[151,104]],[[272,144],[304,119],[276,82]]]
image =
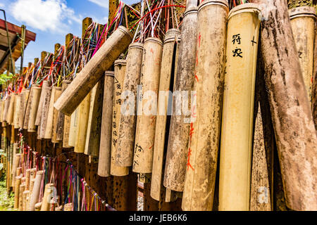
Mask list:
[[[138,0],[123,2],[133,4]],[[54,44],[65,44],[66,34],[81,36],[83,18],[101,24],[108,21],[108,0],[0,0],[0,8],[6,11],[8,22],[24,24],[37,34],[35,42],[25,49],[24,66],[40,58],[41,51],[53,52]]]

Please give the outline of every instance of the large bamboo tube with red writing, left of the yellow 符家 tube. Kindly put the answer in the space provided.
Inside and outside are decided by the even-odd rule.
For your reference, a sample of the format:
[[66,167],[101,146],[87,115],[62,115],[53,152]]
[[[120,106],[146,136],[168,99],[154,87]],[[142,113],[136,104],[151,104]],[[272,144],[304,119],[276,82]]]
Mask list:
[[227,16],[227,1],[203,1],[199,5],[193,87],[197,101],[192,102],[182,210],[205,211],[212,210],[213,206],[225,75]]

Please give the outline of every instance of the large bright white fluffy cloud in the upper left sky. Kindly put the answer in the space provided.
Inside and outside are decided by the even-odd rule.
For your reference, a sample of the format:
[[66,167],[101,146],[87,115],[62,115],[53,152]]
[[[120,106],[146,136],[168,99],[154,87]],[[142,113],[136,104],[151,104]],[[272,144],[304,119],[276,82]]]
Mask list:
[[64,32],[67,23],[82,21],[65,0],[17,0],[10,9],[15,20],[42,31]]

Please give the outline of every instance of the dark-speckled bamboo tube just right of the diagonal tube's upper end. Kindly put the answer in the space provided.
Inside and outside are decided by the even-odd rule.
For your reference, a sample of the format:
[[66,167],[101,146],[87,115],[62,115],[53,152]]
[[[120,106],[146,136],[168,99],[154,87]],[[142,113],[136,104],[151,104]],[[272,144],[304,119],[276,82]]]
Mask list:
[[132,105],[127,105],[125,112],[120,117],[118,143],[116,149],[116,164],[120,167],[130,167],[133,161],[133,150],[135,147],[135,128],[137,126],[137,85],[141,76],[143,44],[132,43],[129,46],[127,66],[121,99],[122,107],[125,101],[134,100]]

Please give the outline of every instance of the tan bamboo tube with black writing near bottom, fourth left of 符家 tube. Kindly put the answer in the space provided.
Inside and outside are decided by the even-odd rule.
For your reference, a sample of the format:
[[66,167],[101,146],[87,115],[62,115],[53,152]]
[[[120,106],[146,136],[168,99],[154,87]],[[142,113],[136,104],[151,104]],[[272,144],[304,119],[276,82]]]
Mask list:
[[[163,43],[160,39],[149,37],[144,41],[142,76],[140,79],[142,98],[138,101],[139,105],[147,105],[147,108],[143,108],[142,106],[141,112],[139,111],[141,107],[137,109],[140,113],[137,115],[133,172],[152,172],[156,103],[157,94],[159,92],[162,50]],[[151,96],[149,94],[151,94]]]

